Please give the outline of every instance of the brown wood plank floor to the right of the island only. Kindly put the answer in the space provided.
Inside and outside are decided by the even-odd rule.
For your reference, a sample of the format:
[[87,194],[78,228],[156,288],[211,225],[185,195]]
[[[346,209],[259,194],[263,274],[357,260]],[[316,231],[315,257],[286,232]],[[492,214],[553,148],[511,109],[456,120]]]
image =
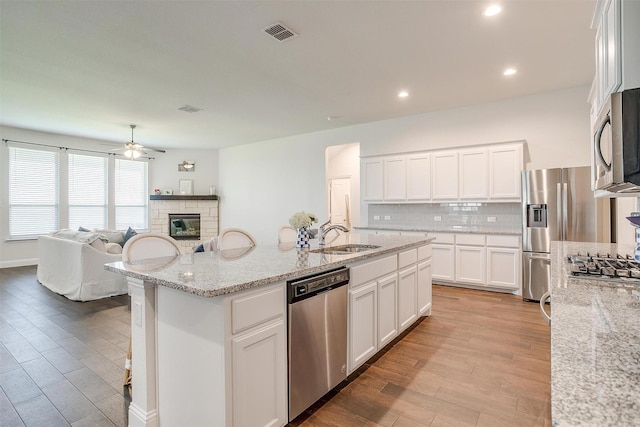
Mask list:
[[360,376],[290,425],[550,426],[550,331],[538,304],[434,286],[433,307]]

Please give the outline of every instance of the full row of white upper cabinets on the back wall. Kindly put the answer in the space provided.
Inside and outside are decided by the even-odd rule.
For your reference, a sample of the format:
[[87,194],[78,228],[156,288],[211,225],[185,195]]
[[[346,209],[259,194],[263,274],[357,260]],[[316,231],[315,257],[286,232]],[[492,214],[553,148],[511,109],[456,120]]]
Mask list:
[[523,142],[362,159],[367,203],[519,202]]

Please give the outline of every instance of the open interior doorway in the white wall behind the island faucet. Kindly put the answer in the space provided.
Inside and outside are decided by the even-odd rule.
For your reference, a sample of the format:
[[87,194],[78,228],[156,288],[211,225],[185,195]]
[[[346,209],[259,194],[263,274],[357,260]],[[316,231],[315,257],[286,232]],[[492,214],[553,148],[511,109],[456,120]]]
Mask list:
[[327,215],[332,224],[360,225],[360,144],[327,147]]

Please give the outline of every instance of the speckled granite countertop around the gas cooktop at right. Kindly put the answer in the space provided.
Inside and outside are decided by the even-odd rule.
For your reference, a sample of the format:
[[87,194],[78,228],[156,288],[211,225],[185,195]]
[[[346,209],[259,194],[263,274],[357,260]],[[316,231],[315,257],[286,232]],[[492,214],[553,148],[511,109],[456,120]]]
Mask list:
[[634,247],[553,243],[553,424],[640,425],[640,283],[569,276],[566,257],[578,251],[633,255]]

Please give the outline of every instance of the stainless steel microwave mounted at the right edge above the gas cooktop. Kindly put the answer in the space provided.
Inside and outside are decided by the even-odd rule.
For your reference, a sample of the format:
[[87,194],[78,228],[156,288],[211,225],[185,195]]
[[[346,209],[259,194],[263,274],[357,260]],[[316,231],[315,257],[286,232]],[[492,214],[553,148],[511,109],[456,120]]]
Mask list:
[[592,148],[594,190],[640,196],[640,88],[611,94],[596,120]]

